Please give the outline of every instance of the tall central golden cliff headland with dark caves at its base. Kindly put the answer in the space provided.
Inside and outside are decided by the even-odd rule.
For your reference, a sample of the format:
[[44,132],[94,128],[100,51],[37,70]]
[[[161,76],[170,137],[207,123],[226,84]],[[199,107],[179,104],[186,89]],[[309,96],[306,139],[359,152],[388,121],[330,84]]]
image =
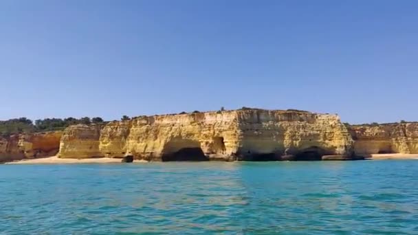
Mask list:
[[285,152],[350,156],[353,140],[337,115],[250,109],[70,126],[59,157],[230,161],[280,159]]

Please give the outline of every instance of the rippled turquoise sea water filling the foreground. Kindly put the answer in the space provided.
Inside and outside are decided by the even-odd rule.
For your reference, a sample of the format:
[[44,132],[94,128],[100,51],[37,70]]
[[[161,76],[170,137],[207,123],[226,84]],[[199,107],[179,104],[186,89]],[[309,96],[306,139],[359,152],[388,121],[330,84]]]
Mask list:
[[0,234],[418,234],[418,161],[0,165]]

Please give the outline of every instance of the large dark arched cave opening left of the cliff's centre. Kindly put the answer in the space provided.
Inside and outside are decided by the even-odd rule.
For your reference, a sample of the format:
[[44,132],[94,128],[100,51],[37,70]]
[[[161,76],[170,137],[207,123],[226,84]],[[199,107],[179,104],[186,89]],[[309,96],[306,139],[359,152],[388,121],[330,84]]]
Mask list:
[[209,161],[209,158],[198,141],[175,138],[164,146],[162,161]]

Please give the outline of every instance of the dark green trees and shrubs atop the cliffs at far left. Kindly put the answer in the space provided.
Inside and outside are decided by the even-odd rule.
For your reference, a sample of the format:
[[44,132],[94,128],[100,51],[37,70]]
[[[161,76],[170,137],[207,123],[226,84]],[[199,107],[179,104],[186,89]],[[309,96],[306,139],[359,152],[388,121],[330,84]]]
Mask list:
[[102,117],[82,117],[76,119],[74,117],[61,118],[45,118],[43,120],[32,120],[26,117],[14,118],[6,121],[0,121],[0,135],[7,136],[15,133],[35,133],[43,131],[60,131],[74,124],[90,124],[104,122]]

